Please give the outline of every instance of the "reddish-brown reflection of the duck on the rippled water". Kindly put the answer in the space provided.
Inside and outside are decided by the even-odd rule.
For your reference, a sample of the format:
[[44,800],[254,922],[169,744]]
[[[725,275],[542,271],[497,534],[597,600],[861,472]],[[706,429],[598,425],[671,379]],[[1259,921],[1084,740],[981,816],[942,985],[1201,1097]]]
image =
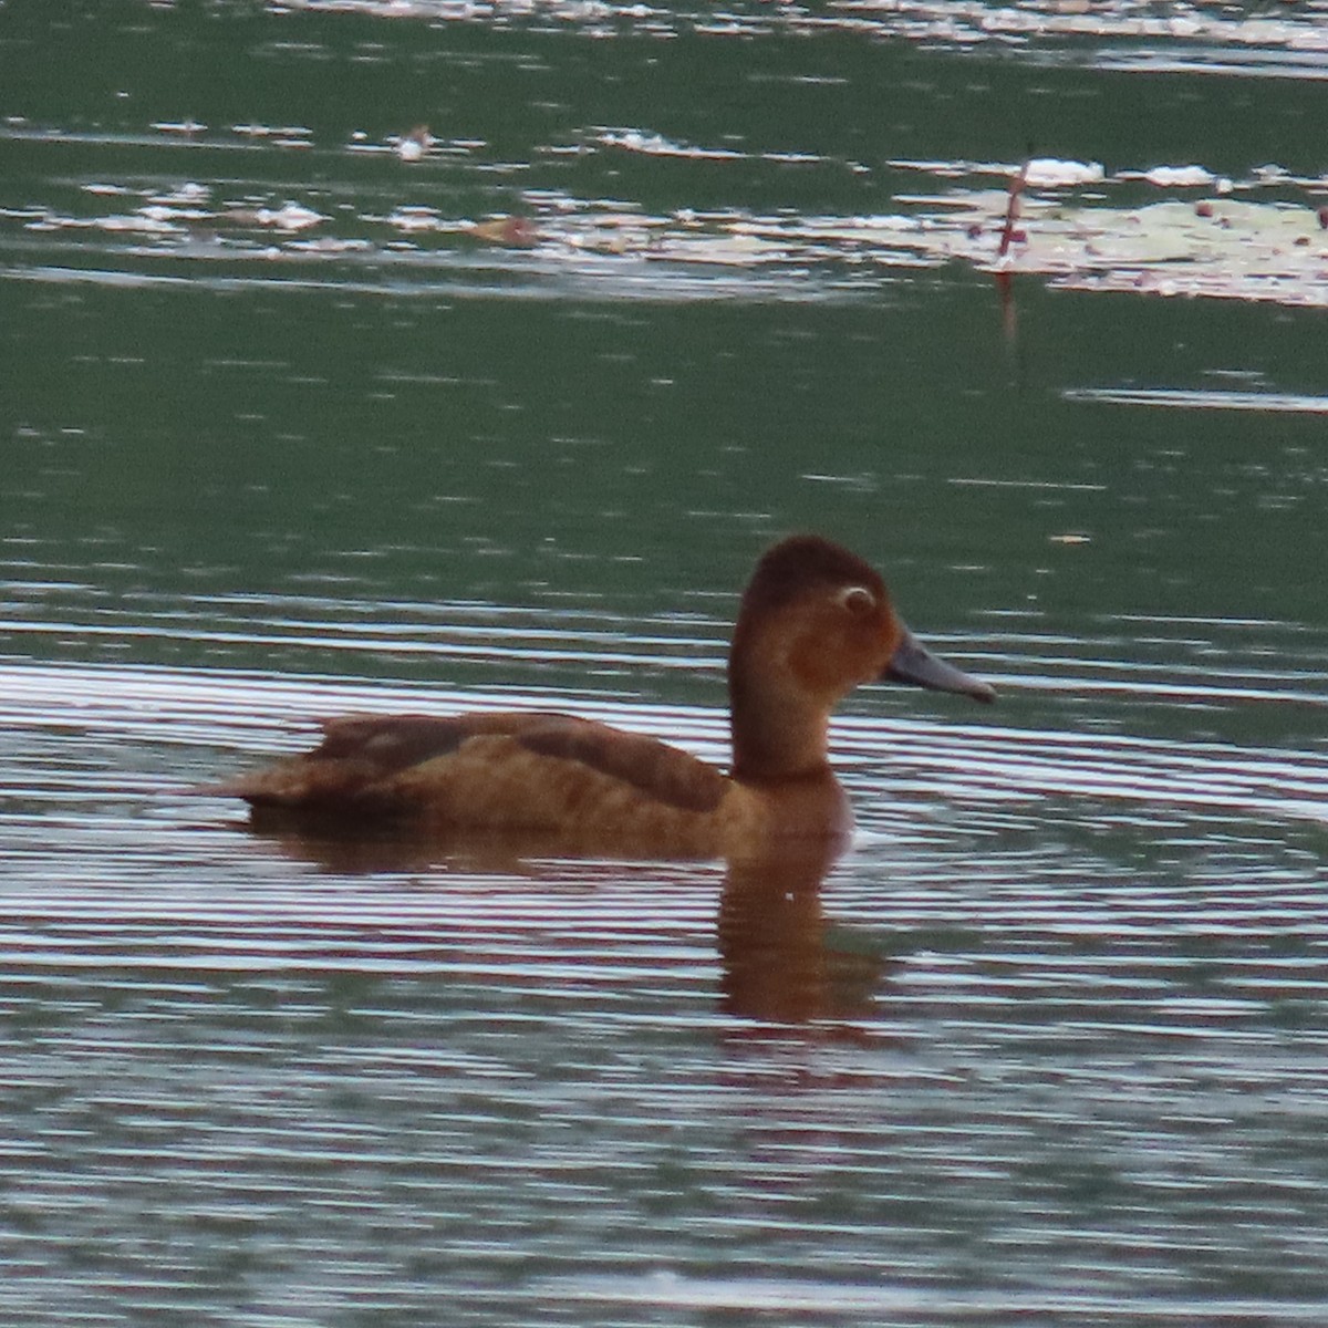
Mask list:
[[[308,817],[255,815],[254,835],[283,855],[337,875],[502,875],[517,880],[556,879],[559,886],[603,886],[607,879],[669,870],[703,872],[704,859],[614,859],[586,855],[584,845],[550,845],[547,835],[458,833],[445,841],[402,827],[367,834],[363,826],[311,823]],[[772,843],[721,863],[716,920],[720,1009],[761,1024],[842,1024],[872,1013],[882,985],[896,967],[890,956],[854,942],[825,915],[822,884],[843,841],[790,846]],[[716,865],[720,866],[720,865]],[[684,872],[680,871],[680,876]],[[704,878],[703,878],[704,879]],[[846,1035],[846,1029],[839,1031]]]

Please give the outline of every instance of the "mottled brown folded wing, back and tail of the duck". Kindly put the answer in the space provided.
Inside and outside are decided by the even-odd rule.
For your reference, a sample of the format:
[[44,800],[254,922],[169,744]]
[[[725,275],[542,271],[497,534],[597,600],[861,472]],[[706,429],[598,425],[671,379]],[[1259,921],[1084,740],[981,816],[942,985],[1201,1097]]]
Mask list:
[[424,807],[429,801],[433,811],[446,814],[450,805],[465,821],[466,805],[490,805],[494,797],[533,807],[554,793],[564,802],[567,790],[614,786],[681,811],[708,813],[729,781],[657,738],[570,714],[356,714],[325,721],[323,742],[312,752],[201,791],[254,806],[364,813],[430,810]]

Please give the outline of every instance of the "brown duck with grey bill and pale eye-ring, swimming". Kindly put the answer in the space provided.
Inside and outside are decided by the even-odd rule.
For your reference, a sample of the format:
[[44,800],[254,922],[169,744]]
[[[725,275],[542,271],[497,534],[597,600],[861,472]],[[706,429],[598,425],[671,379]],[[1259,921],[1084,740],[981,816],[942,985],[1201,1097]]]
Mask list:
[[323,721],[315,749],[198,791],[242,798],[268,831],[404,826],[551,851],[768,855],[846,841],[853,813],[830,766],[830,718],[876,681],[996,696],[914,636],[870,563],[822,535],[791,535],[760,558],[738,606],[726,772],[560,712],[349,714]]

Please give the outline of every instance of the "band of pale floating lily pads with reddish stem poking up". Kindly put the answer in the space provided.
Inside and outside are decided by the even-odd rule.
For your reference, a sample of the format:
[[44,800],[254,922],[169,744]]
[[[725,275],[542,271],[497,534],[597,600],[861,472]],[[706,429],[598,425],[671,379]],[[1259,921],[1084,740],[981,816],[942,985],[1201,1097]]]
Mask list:
[[[220,141],[278,145],[291,133],[246,124],[223,131]],[[42,138],[27,127],[9,134]],[[7,236],[98,232],[108,250],[120,247],[125,262],[171,255],[207,264],[260,254],[268,266],[282,258],[353,262],[353,280],[363,282],[365,262],[390,256],[394,282],[409,280],[412,263],[436,282],[446,280],[449,262],[458,258],[474,280],[479,250],[490,268],[530,278],[559,270],[586,276],[590,259],[627,260],[632,293],[657,293],[687,272],[724,272],[738,287],[744,274],[760,272],[761,297],[769,296],[772,280],[790,293],[809,283],[857,293],[890,270],[961,264],[1003,280],[1040,278],[1064,290],[1328,304],[1328,179],[1295,177],[1276,165],[1231,178],[1193,162],[1108,171],[1101,162],[1058,158],[1019,165],[900,159],[872,173],[883,194],[890,186],[890,206],[879,211],[684,203],[652,212],[629,201],[559,189],[475,189],[474,175],[493,166],[477,165],[471,147],[444,145],[432,161],[414,158],[402,167],[394,146],[401,141],[380,145],[385,174],[372,187],[333,182],[232,194],[193,178],[163,185],[159,178],[135,183],[98,174],[65,190],[61,206],[0,208],[0,252]],[[432,151],[437,142],[430,138]],[[347,159],[368,146],[367,135],[356,134],[329,151]],[[178,138],[173,150],[181,150]],[[187,151],[195,150],[191,141]],[[679,171],[736,170],[750,161],[737,150],[681,145],[644,129],[595,129],[576,151],[582,158],[643,154],[676,163],[671,169]],[[562,151],[544,155],[556,161]],[[823,158],[806,155],[793,169],[825,166]],[[434,173],[430,203],[414,201],[421,170]],[[685,190],[687,181],[677,185]],[[477,210],[477,199],[495,206]],[[534,255],[537,270],[530,267]],[[31,264],[31,247],[24,256]],[[655,268],[644,288],[641,263]],[[21,267],[11,271],[25,275]],[[592,279],[612,297],[622,293],[615,278],[625,271],[610,262]]]

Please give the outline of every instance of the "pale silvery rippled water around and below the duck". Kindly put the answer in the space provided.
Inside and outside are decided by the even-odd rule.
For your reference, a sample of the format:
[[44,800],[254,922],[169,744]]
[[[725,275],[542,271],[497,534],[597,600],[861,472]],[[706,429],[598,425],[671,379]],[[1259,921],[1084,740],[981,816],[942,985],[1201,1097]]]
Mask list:
[[266,839],[179,791],[313,713],[510,695],[3,684],[13,1313],[1320,1308],[1328,757],[859,717],[862,830],[822,882]]

